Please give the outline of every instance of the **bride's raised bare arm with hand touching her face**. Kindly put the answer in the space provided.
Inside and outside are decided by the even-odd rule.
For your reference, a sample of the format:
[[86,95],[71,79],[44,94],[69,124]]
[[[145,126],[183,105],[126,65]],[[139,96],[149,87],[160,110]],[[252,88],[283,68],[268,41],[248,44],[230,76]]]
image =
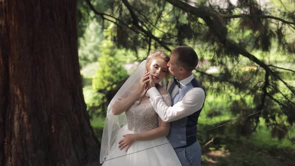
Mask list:
[[141,77],[141,79],[139,81],[138,87],[134,93],[128,95],[127,97],[125,97],[123,99],[116,101],[112,105],[112,108],[111,108],[112,114],[114,114],[114,115],[121,114],[122,112],[127,110],[130,107],[130,105],[136,101],[137,98],[145,95],[147,88],[144,88],[144,87],[145,87],[146,83],[149,81],[148,74],[149,74],[149,72],[145,72],[143,74],[143,76]]

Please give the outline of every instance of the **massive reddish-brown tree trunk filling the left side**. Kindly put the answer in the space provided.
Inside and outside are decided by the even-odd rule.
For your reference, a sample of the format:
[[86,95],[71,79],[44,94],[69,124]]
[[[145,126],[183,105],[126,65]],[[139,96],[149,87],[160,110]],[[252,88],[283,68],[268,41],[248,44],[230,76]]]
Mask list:
[[0,166],[98,160],[76,32],[76,0],[0,0]]

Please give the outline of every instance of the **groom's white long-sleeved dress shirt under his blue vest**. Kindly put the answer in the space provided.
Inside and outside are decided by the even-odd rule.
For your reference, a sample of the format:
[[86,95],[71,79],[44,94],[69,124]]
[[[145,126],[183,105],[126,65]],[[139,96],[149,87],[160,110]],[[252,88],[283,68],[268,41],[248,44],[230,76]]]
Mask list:
[[[180,80],[180,88],[186,85],[192,79],[193,75],[191,74],[187,78]],[[167,89],[169,89],[173,81],[173,79],[170,80]],[[175,85],[171,92],[171,98],[173,98],[173,96],[177,93],[178,90],[178,86]],[[174,105],[172,106],[167,106],[165,104],[161,94],[155,87],[151,87],[150,89],[148,89],[146,92],[146,96],[149,97],[149,101],[156,113],[159,115],[159,117],[163,121],[168,122],[178,120],[199,110],[203,106],[205,92],[200,87],[193,87],[192,89],[186,92],[182,100],[178,101],[177,103],[174,103]]]

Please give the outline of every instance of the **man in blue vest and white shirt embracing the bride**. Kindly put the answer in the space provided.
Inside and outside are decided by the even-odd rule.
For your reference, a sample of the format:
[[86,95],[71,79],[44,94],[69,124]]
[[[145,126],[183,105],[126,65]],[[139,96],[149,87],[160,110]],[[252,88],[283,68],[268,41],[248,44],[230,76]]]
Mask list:
[[178,46],[172,49],[167,63],[174,76],[167,89],[172,99],[172,106],[167,106],[149,77],[146,96],[149,97],[154,110],[163,121],[170,121],[167,136],[181,165],[200,165],[201,148],[196,139],[196,124],[205,100],[205,92],[200,83],[194,79],[192,70],[198,63],[193,48]]

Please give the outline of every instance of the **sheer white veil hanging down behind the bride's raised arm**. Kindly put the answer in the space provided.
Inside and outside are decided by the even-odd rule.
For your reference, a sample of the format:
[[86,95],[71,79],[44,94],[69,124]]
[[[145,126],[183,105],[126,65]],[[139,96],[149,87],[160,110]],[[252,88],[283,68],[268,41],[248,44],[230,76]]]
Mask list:
[[100,163],[102,163],[107,154],[117,146],[117,144],[115,143],[116,135],[118,134],[119,129],[127,124],[125,112],[121,113],[120,115],[113,115],[112,105],[117,100],[126,97],[128,94],[131,94],[136,90],[138,82],[141,76],[144,74],[144,71],[146,70],[145,65],[146,60],[143,60],[135,69],[135,71],[128,77],[125,83],[120,87],[120,89],[117,91],[117,93],[114,95],[107,106],[100,147]]

